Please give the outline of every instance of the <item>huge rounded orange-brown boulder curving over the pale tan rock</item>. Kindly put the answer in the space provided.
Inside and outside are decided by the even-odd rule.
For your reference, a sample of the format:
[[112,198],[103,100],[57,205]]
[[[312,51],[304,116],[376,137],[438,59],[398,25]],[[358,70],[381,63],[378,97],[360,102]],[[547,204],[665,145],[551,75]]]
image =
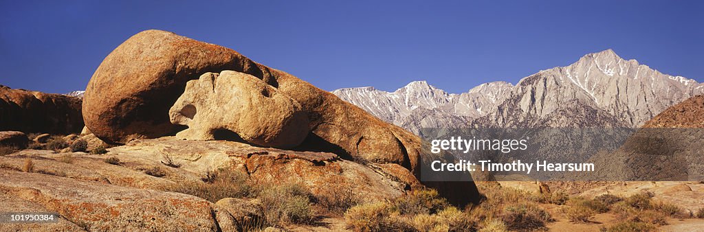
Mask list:
[[251,60],[222,46],[147,30],[111,52],[93,74],[84,95],[83,118],[96,136],[111,143],[175,132],[169,108],[186,82],[205,72],[258,73]]

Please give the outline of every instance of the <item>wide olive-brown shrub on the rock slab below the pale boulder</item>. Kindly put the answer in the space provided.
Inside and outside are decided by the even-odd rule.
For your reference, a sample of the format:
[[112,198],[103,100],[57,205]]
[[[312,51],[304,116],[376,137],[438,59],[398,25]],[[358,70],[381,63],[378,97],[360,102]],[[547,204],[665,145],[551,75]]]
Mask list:
[[218,202],[223,198],[244,198],[253,194],[249,177],[234,169],[220,169],[207,174],[203,182],[177,183],[165,190],[194,195],[210,202]]

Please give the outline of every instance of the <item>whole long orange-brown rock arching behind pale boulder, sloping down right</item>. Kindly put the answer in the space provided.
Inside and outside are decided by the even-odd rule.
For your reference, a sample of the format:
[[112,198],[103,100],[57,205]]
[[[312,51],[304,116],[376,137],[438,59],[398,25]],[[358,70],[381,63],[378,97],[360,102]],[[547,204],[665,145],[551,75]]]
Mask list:
[[[186,83],[222,70],[257,77],[301,104],[310,134],[296,150],[332,151],[382,168],[397,165],[420,176],[421,141],[410,132],[236,51],[159,30],[135,34],[103,60],[84,94],[86,127],[110,143],[175,133],[180,128],[170,123],[168,112]],[[456,205],[479,200],[472,182],[425,184],[439,188]],[[452,193],[458,195],[448,195]]]

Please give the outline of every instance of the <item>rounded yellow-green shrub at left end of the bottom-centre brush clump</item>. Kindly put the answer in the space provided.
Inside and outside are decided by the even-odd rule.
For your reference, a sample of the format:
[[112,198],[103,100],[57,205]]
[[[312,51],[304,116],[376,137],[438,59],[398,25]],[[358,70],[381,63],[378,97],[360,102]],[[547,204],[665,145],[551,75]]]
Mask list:
[[410,231],[410,225],[398,216],[386,202],[356,205],[344,214],[347,228],[353,231]]

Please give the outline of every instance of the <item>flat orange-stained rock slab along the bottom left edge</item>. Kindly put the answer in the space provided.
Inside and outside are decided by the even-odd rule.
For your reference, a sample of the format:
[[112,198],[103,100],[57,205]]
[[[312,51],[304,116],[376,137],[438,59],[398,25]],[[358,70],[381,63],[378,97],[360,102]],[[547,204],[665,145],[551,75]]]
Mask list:
[[237,230],[225,210],[190,195],[5,170],[0,177],[0,192],[58,212],[87,231]]

